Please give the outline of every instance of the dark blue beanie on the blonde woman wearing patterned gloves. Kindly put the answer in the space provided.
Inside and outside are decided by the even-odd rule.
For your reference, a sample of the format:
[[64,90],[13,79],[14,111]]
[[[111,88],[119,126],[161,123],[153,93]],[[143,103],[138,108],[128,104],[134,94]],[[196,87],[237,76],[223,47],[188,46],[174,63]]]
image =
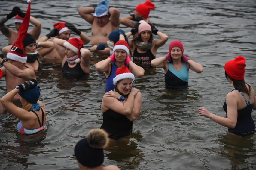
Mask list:
[[35,88],[33,89],[20,91],[18,93],[22,98],[24,98],[26,101],[32,104],[37,103],[40,96],[40,91],[38,86],[35,86]]

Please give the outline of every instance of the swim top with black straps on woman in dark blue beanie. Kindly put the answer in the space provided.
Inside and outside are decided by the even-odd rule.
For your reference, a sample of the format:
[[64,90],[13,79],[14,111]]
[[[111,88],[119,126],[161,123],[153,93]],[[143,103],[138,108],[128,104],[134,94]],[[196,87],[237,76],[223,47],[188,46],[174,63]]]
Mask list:
[[35,113],[34,110],[31,110],[31,112],[35,113],[35,115],[37,116],[37,119],[38,119],[38,122],[39,122],[39,125],[40,125],[40,128],[37,128],[37,129],[26,129],[23,127],[22,125],[22,122],[21,120],[18,122],[17,124],[17,130],[20,134],[23,134],[23,135],[34,135],[42,130],[44,130],[44,111],[43,109],[41,108],[41,111],[42,111],[42,123],[40,122],[40,119],[38,117],[38,114]]

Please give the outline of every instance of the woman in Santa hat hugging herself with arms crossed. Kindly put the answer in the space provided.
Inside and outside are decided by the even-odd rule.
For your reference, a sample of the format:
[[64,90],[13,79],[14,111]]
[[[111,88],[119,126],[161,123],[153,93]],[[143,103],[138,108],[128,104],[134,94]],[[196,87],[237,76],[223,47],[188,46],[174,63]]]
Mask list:
[[133,121],[139,115],[142,95],[138,89],[132,88],[134,75],[126,66],[118,68],[113,79],[114,88],[102,98],[104,129],[109,138],[118,140],[130,135]]

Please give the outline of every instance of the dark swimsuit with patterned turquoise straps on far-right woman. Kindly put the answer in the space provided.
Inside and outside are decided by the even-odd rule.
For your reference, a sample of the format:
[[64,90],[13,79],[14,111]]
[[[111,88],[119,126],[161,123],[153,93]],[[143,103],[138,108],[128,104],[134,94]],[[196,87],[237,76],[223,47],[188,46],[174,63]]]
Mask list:
[[[228,131],[237,135],[241,135],[241,134],[250,134],[253,133],[255,131],[255,124],[254,121],[251,117],[251,112],[252,112],[252,104],[250,104],[251,101],[251,91],[249,92],[249,100],[247,101],[247,99],[245,98],[244,94],[238,90],[238,89],[233,89],[232,91],[238,91],[241,93],[241,95],[243,96],[243,98],[245,99],[246,102],[246,107],[241,109],[241,110],[237,110],[237,122],[236,122],[236,127],[235,128],[228,128]],[[223,104],[223,109],[226,112],[226,117],[227,117],[227,104],[226,104],[226,100]]]

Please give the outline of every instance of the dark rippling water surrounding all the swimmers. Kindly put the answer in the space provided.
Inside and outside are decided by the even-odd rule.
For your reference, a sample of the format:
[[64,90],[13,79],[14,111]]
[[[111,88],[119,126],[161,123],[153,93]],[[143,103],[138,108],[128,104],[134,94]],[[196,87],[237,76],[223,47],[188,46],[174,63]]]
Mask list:
[[[144,1],[110,0],[120,10],[120,18],[132,13]],[[224,77],[224,63],[238,55],[246,58],[245,81],[256,88],[256,1],[255,0],[157,0],[150,19],[169,36],[157,51],[165,55],[172,40],[181,40],[184,53],[201,63],[204,71],[190,70],[189,87],[169,90],[164,86],[163,69],[147,70],[134,86],[142,92],[142,108],[127,139],[105,149],[104,165],[120,169],[256,169],[256,135],[241,137],[198,114],[198,107],[225,116],[222,104],[232,86]],[[82,6],[99,0],[33,1],[31,15],[42,23],[40,37],[53,23],[72,22],[89,36],[91,26],[78,14]],[[129,5],[128,5],[129,4]],[[0,16],[14,6],[26,10],[26,1],[0,1]],[[14,28],[13,19],[6,22]],[[120,25],[120,28],[129,31]],[[72,35],[75,36],[75,35]],[[0,48],[8,40],[0,34]],[[84,47],[90,48],[91,44]],[[2,55],[2,54],[1,54]],[[40,100],[46,105],[46,130],[39,139],[21,139],[17,119],[5,111],[0,115],[0,169],[79,169],[74,146],[93,128],[102,124],[101,100],[105,76],[91,57],[89,80],[62,77],[61,65],[42,60],[36,72],[41,87]],[[5,95],[5,78],[0,80],[0,96]],[[255,111],[253,119],[256,120]],[[26,141],[26,142],[24,142]]]

